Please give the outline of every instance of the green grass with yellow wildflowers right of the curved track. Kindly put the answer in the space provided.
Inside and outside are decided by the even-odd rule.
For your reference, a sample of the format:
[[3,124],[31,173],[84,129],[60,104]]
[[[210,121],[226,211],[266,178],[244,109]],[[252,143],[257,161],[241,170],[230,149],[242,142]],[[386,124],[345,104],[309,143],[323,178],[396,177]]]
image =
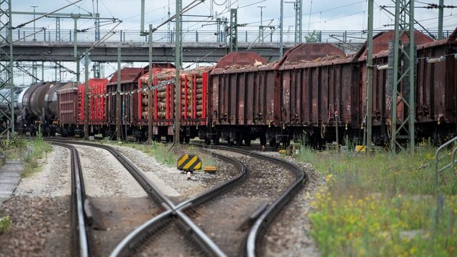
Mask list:
[[[323,256],[456,256],[457,175],[444,171],[436,225],[434,148],[354,154],[302,148],[326,186],[311,202],[311,235]],[[449,152],[445,161],[450,162]]]

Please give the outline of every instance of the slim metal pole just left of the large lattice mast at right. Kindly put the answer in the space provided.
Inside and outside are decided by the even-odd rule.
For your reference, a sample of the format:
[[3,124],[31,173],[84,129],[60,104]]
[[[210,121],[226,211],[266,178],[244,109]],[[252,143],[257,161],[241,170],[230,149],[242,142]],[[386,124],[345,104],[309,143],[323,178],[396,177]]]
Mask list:
[[366,153],[371,151],[371,114],[373,113],[373,0],[368,0],[368,52],[366,55]]

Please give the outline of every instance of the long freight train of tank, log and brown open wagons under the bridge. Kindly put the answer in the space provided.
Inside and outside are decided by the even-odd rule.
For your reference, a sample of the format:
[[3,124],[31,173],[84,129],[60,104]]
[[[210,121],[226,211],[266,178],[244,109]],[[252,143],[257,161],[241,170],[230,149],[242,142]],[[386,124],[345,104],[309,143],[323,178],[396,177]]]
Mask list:
[[[439,143],[456,133],[457,29],[441,41],[418,31],[415,38],[415,134]],[[388,73],[392,69],[384,68],[388,68],[388,41],[392,39],[392,31],[373,38],[373,112],[369,115],[373,120],[371,141],[377,145],[388,143],[391,126],[404,119],[403,106],[397,103],[398,123],[391,124],[395,101]],[[402,38],[403,42],[407,39]],[[199,137],[206,143],[222,139],[249,145],[258,138],[262,145],[278,146],[304,140],[319,148],[336,140],[360,141],[367,117],[366,69],[366,45],[346,56],[331,44],[299,44],[272,64],[257,54],[235,52],[216,66],[181,71],[179,79],[171,64],[154,64],[152,74],[147,74],[147,67],[124,68],[118,71],[121,91],[116,88],[117,74],[111,81],[89,80],[89,133],[114,138],[116,129],[121,129],[124,139],[145,140],[151,126],[151,138],[171,141],[178,106],[181,142]],[[17,89],[18,127],[35,133],[36,124],[41,124],[50,135],[83,136],[84,84],[51,84]],[[37,89],[54,91],[39,94]],[[406,86],[399,89],[402,94]],[[178,103],[175,94],[179,94]],[[120,109],[116,109],[117,95],[121,96]],[[120,127],[116,127],[116,119],[120,119]]]

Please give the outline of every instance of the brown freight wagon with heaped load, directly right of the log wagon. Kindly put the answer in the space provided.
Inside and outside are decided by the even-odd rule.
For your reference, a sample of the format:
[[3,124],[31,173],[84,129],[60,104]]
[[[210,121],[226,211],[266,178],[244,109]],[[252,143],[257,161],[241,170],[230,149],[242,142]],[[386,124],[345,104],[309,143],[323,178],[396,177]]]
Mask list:
[[275,69],[255,53],[233,52],[211,72],[211,126],[218,136],[238,145],[252,139],[266,142],[268,126],[278,126]]

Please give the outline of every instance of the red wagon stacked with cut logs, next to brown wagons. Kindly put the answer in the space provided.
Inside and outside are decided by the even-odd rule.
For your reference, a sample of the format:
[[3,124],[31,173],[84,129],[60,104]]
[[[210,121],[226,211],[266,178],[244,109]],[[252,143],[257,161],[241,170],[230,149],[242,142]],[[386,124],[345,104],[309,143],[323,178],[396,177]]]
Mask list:
[[[181,141],[189,142],[190,138],[206,136],[207,106],[208,106],[208,81],[212,67],[201,67],[192,70],[181,71],[179,76],[179,101],[181,121]],[[151,126],[153,138],[157,141],[161,136],[166,136],[171,141],[174,135],[174,80],[175,69],[162,69],[154,71],[152,84],[149,85],[149,74],[141,77],[141,84],[151,87],[151,99],[149,91],[141,93],[141,119],[144,126],[148,125],[149,110],[151,110]],[[149,109],[149,105],[151,109]]]

